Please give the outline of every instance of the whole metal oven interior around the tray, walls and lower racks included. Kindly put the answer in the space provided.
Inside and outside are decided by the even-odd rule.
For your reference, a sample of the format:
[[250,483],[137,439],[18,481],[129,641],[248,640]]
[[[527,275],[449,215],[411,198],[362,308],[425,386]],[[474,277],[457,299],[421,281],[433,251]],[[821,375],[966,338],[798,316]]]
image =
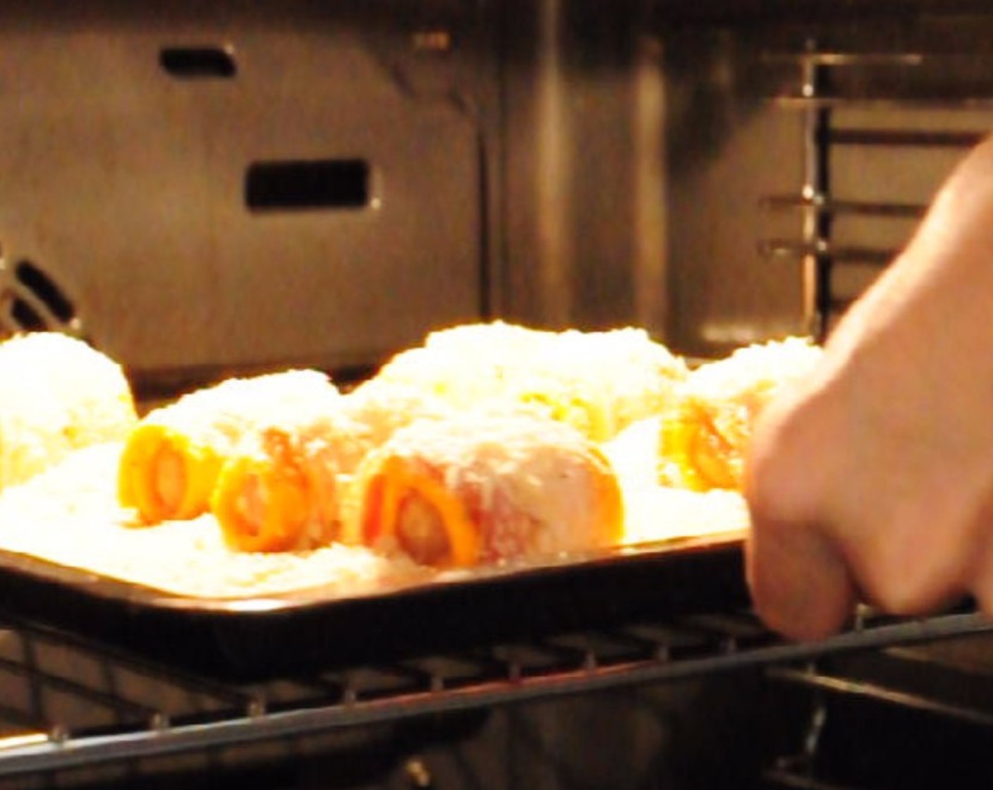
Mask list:
[[[823,338],[993,125],[980,2],[4,5],[0,327],[142,393],[431,329]],[[708,579],[695,580],[706,586]],[[989,785],[968,605],[745,606],[220,682],[3,615],[0,785]]]

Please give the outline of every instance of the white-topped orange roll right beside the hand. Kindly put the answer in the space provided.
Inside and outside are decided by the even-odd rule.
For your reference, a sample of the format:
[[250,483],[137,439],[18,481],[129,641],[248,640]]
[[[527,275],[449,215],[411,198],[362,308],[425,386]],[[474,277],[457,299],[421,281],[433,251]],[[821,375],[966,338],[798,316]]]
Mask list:
[[738,349],[694,370],[675,405],[662,412],[660,482],[695,491],[740,489],[756,417],[819,358],[819,347],[787,338]]

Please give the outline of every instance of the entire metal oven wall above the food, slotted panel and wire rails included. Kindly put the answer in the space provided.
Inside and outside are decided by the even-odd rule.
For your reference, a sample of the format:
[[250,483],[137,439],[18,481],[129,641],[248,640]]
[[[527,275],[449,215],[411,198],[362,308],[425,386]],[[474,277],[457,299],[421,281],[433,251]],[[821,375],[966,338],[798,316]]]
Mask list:
[[993,124],[993,12],[42,0],[0,25],[0,327],[139,381],[487,317],[823,336]]

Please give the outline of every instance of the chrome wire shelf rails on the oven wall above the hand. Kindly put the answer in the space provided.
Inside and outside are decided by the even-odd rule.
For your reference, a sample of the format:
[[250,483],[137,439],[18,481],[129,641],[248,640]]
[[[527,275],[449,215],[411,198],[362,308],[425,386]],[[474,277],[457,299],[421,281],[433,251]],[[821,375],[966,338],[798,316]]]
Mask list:
[[[936,188],[946,172],[940,152],[964,155],[987,134],[993,85],[977,79],[989,74],[985,57],[824,51],[813,39],[805,52],[767,54],[769,63],[791,63],[797,73],[775,101],[802,119],[803,183],[798,194],[762,201],[767,211],[796,213],[799,235],[763,239],[759,249],[764,257],[800,262],[803,313],[813,337],[826,337],[878,271],[900,254],[929,200],[880,197],[887,194],[879,189],[888,178],[882,171],[863,173],[858,185],[837,194],[839,163],[853,150],[876,151],[877,159],[889,156],[904,169],[932,172]],[[954,115],[957,125],[942,126]]]

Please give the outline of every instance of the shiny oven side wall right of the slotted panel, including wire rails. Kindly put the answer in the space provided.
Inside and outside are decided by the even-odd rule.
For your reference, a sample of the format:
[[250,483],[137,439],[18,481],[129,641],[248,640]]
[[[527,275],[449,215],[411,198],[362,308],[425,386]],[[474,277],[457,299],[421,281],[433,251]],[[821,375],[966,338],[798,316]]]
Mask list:
[[[507,5],[507,4],[504,4]],[[823,337],[993,125],[979,3],[511,3],[504,307]]]

